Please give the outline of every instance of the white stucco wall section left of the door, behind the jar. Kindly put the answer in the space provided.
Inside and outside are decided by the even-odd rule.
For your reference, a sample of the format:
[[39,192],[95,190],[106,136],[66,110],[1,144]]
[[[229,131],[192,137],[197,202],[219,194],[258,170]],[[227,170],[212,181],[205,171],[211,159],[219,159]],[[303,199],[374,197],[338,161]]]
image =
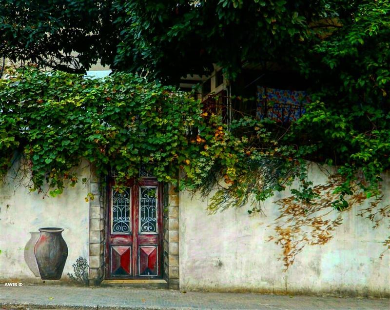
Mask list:
[[[14,166],[16,168],[16,166]],[[69,280],[72,264],[79,256],[88,259],[89,203],[85,197],[89,185],[81,184],[89,178],[89,165],[82,163],[77,169],[79,182],[65,189],[58,197],[44,197],[42,193],[30,192],[19,182],[13,182],[12,170],[6,183],[0,184],[0,281],[42,282],[35,277],[24,260],[24,247],[30,239],[30,231],[40,227],[61,227],[63,239],[68,246],[68,258],[61,280]],[[23,182],[26,182],[24,179]],[[44,197],[44,199],[42,199]],[[46,282],[59,282],[46,280]]]

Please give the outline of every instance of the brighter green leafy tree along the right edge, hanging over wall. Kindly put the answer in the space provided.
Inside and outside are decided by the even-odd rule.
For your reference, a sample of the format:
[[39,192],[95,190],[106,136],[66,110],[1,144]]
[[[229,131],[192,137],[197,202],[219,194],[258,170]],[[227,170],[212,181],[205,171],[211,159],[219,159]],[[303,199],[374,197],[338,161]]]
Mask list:
[[291,132],[315,142],[316,160],[340,166],[346,182],[337,188],[338,207],[355,182],[367,197],[377,195],[380,174],[390,167],[390,3],[355,5],[301,66],[318,101]]

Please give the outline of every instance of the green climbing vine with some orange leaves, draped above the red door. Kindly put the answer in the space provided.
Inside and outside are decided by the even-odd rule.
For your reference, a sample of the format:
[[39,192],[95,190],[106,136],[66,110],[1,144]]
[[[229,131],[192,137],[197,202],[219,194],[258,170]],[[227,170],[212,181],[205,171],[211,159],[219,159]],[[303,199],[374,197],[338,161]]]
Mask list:
[[[25,68],[1,80],[0,97],[1,174],[21,154],[31,170],[30,189],[46,186],[52,196],[67,183],[86,181],[74,172],[82,159],[100,175],[115,171],[118,189],[141,166],[173,183],[182,169],[180,188],[205,194],[224,178],[228,187],[220,187],[211,207],[241,206],[251,193],[263,200],[298,171],[288,152],[276,158],[277,143],[261,121],[245,118],[227,130],[190,96],[132,74],[91,79]],[[237,135],[242,128],[250,134]],[[262,151],[270,146],[273,152]],[[262,174],[259,163],[268,163]],[[243,182],[243,175],[257,173],[261,185]],[[221,193],[228,196],[221,200]]]

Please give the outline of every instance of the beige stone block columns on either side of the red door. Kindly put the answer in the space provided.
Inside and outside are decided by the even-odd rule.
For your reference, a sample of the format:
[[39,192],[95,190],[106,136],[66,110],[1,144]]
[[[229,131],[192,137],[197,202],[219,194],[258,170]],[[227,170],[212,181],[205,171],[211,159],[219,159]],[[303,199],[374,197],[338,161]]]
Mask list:
[[[91,165],[89,192],[89,283],[99,285],[105,277],[105,238],[108,194]],[[172,184],[163,186],[162,278],[169,289],[179,289],[179,195]]]

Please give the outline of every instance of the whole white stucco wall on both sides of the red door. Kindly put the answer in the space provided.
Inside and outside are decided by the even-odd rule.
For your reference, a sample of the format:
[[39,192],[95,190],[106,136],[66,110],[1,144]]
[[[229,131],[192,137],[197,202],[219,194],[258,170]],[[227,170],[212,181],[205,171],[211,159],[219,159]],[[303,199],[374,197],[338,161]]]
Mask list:
[[[80,180],[89,178],[90,167],[83,163],[77,173]],[[327,181],[315,165],[311,178],[315,184]],[[390,173],[383,179],[384,197],[378,208],[390,204]],[[39,227],[65,229],[62,235],[69,254],[56,283],[65,282],[76,259],[89,256],[89,203],[84,198],[90,187],[79,182],[59,197],[42,199],[42,193],[30,193],[17,185],[10,178],[0,185],[0,282],[42,282],[27,267],[23,255],[29,232]],[[268,240],[275,236],[272,225],[280,215],[273,202],[289,196],[285,191],[268,199],[264,214],[250,216],[248,206],[208,215],[207,198],[180,192],[180,289],[390,295],[390,251],[379,259],[385,249],[382,243],[389,236],[389,218],[372,229],[372,222],[357,216],[367,201],[347,211],[332,211],[331,219],[343,218],[343,224],[331,232],[334,237],[322,246],[307,245],[284,272],[283,261],[278,260],[282,249]]]

